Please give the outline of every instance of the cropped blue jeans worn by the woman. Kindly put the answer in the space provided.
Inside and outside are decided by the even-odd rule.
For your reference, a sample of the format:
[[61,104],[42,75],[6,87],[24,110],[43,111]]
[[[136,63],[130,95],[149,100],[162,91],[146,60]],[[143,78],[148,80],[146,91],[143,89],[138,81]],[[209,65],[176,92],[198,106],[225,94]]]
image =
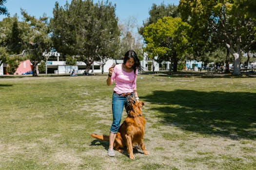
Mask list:
[[[133,97],[133,94],[130,94]],[[112,97],[112,112],[113,112],[113,122],[110,128],[110,133],[118,133],[120,122],[122,119],[123,107],[126,102],[126,96],[120,96],[116,93],[113,93]]]

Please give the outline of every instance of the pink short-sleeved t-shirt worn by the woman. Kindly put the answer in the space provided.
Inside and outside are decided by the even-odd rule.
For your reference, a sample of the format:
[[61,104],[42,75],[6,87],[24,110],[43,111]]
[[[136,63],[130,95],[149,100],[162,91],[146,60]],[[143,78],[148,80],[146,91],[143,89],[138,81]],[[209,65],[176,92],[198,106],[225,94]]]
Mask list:
[[125,72],[122,69],[122,64],[116,65],[111,76],[111,84],[114,82],[114,80],[116,82],[114,91],[116,91],[118,94],[133,92],[133,89],[136,88],[137,75],[138,69],[136,69],[135,74],[134,70],[132,72]]

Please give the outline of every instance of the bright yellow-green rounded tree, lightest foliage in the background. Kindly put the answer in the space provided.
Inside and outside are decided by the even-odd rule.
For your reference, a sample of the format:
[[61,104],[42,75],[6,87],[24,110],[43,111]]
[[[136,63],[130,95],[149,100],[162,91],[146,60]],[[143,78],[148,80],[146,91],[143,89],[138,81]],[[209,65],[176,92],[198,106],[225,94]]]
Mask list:
[[[163,17],[144,28],[143,37],[147,44],[144,50],[149,57],[158,57],[158,62],[171,61],[177,71],[178,61],[189,51],[187,32],[190,25],[181,18]],[[170,68],[171,70],[171,68]]]

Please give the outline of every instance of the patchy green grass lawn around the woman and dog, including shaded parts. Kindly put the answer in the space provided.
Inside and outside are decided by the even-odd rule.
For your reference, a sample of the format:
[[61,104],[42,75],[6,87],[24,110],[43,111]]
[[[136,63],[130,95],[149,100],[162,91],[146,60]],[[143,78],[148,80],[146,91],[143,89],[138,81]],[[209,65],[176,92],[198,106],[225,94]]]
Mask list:
[[256,77],[138,75],[135,160],[90,136],[109,133],[106,78],[0,77],[0,170],[255,170]]

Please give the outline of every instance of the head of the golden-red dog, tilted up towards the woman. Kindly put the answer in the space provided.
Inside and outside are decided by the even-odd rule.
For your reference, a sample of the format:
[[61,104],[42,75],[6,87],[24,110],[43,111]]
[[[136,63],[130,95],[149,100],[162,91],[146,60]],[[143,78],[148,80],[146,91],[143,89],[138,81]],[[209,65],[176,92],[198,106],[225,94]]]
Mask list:
[[144,102],[137,102],[133,97],[128,96],[125,102],[125,110],[130,117],[142,116]]

